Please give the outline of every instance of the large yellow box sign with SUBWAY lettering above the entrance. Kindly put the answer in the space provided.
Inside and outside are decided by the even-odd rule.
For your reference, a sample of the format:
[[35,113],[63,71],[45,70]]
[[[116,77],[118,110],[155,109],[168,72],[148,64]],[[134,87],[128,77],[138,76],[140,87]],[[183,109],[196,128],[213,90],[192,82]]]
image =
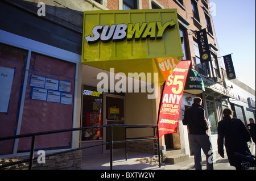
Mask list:
[[84,11],[82,37],[82,64],[115,73],[160,73],[155,58],[183,58],[176,9]]

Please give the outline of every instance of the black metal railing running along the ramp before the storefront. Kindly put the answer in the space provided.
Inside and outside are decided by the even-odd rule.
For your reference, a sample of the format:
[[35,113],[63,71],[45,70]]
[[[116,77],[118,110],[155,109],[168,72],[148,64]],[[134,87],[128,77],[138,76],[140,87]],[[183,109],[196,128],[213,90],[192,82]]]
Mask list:
[[[53,134],[53,133],[62,133],[62,132],[82,131],[82,130],[85,130],[85,129],[107,128],[107,127],[110,128],[110,141],[108,141],[108,142],[104,142],[104,143],[97,144],[97,145],[84,146],[84,147],[76,148],[76,149],[68,149],[68,150],[65,150],[65,151],[58,151],[56,153],[47,154],[46,157],[51,157],[51,156],[57,155],[57,154],[68,153],[68,152],[71,152],[71,151],[77,151],[77,150],[92,148],[94,146],[101,146],[101,145],[109,144],[110,145],[110,170],[112,170],[113,169],[113,144],[125,143],[125,156],[126,156],[126,160],[127,160],[127,142],[155,140],[155,142],[156,142],[155,145],[156,145],[157,150],[158,150],[159,167],[161,167],[158,125],[109,124],[109,125],[99,125],[99,126],[94,126],[94,127],[60,129],[60,130],[56,130],[56,131],[28,133],[28,134],[20,134],[20,135],[16,135],[16,136],[0,137],[0,141],[14,140],[14,139],[24,138],[24,137],[32,137],[31,147],[30,147],[30,157],[29,158],[23,159],[21,161],[2,164],[0,166],[0,168],[12,166],[12,165],[17,165],[19,163],[29,162],[28,169],[31,170],[32,165],[33,165],[33,161],[38,159],[38,157],[34,157],[36,136],[45,135],[45,134]],[[113,141],[113,127],[124,127],[125,128],[125,140]],[[128,129],[128,128],[152,128],[152,129],[154,129],[154,135],[150,136],[150,137],[127,138],[126,137],[126,129]],[[156,129],[156,132],[155,132],[155,129]]]

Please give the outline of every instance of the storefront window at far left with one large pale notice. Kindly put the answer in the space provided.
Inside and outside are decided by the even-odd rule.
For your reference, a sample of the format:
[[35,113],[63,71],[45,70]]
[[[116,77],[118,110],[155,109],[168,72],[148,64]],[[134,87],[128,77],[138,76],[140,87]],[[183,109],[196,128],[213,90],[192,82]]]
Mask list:
[[[27,51],[0,44],[0,137],[16,134]],[[13,140],[0,141],[0,154],[13,153]]]

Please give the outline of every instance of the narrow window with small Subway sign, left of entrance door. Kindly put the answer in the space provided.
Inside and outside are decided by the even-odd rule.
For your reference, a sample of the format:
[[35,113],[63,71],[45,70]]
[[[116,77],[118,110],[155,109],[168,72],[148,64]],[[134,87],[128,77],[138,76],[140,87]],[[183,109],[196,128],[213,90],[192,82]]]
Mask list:
[[[84,86],[82,99],[82,125],[81,127],[93,127],[102,124],[102,92],[95,87]],[[81,132],[81,141],[102,140],[102,129],[86,129]]]

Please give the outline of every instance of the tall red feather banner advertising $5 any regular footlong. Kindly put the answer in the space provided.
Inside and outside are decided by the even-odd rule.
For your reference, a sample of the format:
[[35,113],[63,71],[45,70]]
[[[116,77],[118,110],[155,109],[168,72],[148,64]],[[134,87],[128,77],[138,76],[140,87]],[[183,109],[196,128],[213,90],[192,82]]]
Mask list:
[[158,117],[159,137],[176,133],[185,81],[191,61],[180,61],[164,86]]

